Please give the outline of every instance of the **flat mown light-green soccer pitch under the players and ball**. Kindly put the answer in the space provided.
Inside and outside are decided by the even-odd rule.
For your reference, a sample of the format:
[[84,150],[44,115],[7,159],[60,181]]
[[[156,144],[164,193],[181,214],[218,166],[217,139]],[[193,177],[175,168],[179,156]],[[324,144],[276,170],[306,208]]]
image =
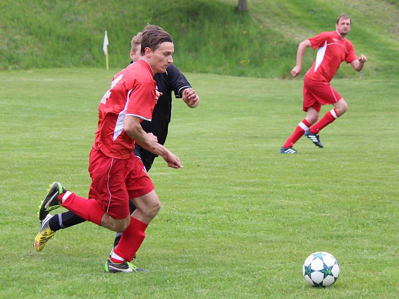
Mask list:
[[[163,207],[134,263],[150,272],[105,273],[114,233],[91,223],[36,253],[48,184],[87,195],[97,107],[117,71],[0,72],[0,297],[397,298],[394,79],[333,80],[349,109],[321,132],[325,148],[302,138],[283,155],[305,115],[302,79],[186,74],[200,106],[174,99],[166,146],[184,168],[157,158],[149,172]],[[330,288],[302,277],[316,251],[340,263]]]

